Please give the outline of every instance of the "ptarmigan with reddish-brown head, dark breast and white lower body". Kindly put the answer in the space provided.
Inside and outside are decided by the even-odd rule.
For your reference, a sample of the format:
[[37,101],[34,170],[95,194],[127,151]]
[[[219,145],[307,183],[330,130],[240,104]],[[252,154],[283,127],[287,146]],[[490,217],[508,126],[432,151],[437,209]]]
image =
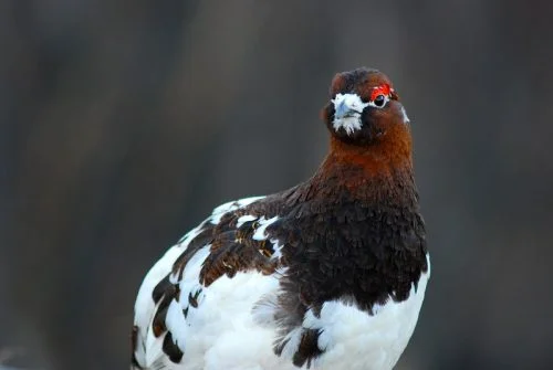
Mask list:
[[215,208],[146,274],[131,369],[393,369],[430,260],[411,124],[378,70],[337,73],[298,186]]

